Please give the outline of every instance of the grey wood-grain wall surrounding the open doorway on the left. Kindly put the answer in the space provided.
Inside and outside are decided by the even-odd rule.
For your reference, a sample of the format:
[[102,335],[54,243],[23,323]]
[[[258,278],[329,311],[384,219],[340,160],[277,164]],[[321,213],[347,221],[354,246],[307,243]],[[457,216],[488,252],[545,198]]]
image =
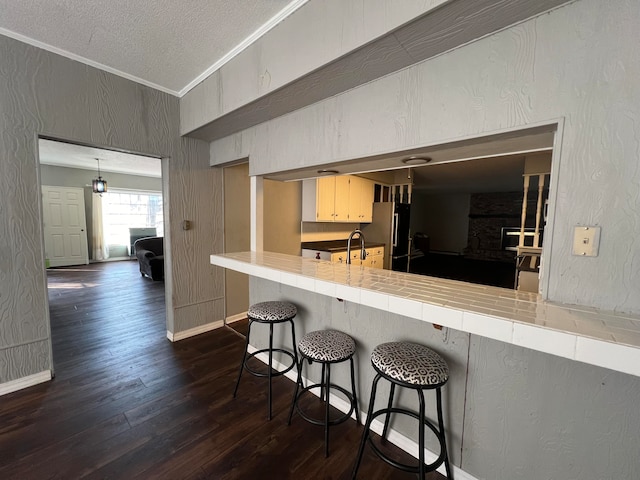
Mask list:
[[221,296],[222,274],[208,265],[221,251],[220,181],[207,145],[180,139],[177,98],[0,36],[0,99],[0,383],[52,368],[39,134],[165,157],[165,217],[197,225],[188,237],[174,225],[166,233],[168,328],[222,318],[189,310]]

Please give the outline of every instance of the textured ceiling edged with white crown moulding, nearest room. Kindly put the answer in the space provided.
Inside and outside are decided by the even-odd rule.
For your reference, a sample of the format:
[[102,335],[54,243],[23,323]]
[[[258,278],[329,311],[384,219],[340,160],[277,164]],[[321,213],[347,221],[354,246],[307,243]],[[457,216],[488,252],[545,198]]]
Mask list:
[[181,95],[305,2],[0,0],[0,34]]

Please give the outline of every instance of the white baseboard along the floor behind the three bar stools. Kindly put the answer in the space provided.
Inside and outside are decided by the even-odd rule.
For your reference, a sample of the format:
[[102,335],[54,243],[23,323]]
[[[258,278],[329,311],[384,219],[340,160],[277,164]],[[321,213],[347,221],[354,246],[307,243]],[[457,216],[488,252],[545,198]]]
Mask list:
[[[255,348],[253,345],[249,345],[248,350],[249,350],[249,353],[253,353],[257,350],[257,348]],[[267,365],[269,364],[269,356],[266,353],[260,353],[256,355],[255,358],[257,358],[261,362],[264,362]],[[276,370],[284,370],[285,368],[287,368],[287,365],[274,360],[273,368]],[[298,377],[298,373],[295,370],[289,370],[287,373],[285,373],[285,377],[295,382]],[[309,381],[309,379],[302,377],[302,384],[304,386],[310,385],[310,383],[311,382]],[[319,396],[320,394],[320,392],[315,392],[315,391],[311,391],[311,393],[313,393],[316,396]],[[330,395],[329,403],[343,413],[347,413],[351,408],[351,405],[349,404],[349,402],[347,402],[345,399],[340,398],[334,394]],[[361,411],[360,417],[362,420],[360,423],[364,425],[364,423],[367,421],[366,412]],[[355,412],[351,414],[351,418],[355,420],[356,418]],[[384,423],[381,422],[380,420],[374,420],[373,422],[371,422],[371,430],[373,430],[378,435],[382,435],[383,428],[384,428]],[[428,429],[426,430],[430,431]],[[415,441],[411,440],[410,438],[405,437],[402,433],[394,430],[393,428],[390,428],[389,432],[387,433],[387,440],[393,443],[398,448],[407,452],[413,458],[415,459],[418,458],[418,444]],[[435,454],[434,452],[426,448],[424,449],[424,459],[426,463],[433,463],[437,458],[438,458],[437,454]],[[473,477],[472,475],[468,474],[467,472],[465,472],[464,470],[460,469],[459,467],[453,464],[451,464],[451,469],[453,470],[453,476],[456,478],[456,480],[478,480],[477,478]],[[444,464],[440,465],[437,471],[442,475],[446,475]]]

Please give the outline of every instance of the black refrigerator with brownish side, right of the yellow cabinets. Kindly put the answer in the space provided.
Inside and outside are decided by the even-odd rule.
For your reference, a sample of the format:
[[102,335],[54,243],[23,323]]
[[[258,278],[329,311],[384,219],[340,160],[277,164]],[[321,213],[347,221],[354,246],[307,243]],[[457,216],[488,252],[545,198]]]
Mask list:
[[409,221],[411,205],[408,203],[376,202],[373,220],[362,227],[367,242],[385,244],[384,268],[406,272],[409,264]]

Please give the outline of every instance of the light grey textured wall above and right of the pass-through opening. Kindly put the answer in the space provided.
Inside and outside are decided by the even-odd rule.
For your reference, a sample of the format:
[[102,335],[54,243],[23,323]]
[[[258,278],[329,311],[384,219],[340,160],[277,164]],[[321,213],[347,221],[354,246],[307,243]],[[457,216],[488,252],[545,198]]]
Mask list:
[[[580,0],[213,142],[212,161],[258,175],[561,119],[543,289],[639,313],[639,21],[636,1]],[[571,255],[574,225],[602,227],[598,257]]]

